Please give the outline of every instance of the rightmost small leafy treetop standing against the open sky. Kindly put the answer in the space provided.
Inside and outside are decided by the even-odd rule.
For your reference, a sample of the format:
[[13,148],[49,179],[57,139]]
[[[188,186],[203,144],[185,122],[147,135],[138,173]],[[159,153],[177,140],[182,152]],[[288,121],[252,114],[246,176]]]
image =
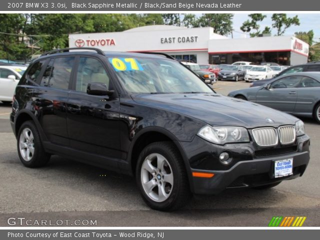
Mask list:
[[285,13],[274,13],[271,16],[273,21],[272,27],[276,28],[276,35],[281,36],[285,30],[291,25],[300,25],[297,15],[294,17],[287,17]]

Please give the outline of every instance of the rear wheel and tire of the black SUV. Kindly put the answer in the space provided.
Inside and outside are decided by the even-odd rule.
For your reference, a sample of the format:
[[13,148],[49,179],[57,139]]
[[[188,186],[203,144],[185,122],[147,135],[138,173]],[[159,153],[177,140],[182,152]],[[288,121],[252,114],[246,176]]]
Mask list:
[[22,123],[17,134],[17,150],[22,164],[27,167],[44,166],[50,159],[33,121]]

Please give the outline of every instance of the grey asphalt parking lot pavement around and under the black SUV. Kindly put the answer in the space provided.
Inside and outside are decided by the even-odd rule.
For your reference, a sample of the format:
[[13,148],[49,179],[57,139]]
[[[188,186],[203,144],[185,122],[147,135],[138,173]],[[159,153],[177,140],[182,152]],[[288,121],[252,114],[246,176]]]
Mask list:
[[[215,84],[221,94],[248,86]],[[0,104],[0,114],[10,107]],[[8,114],[0,115],[0,226],[8,217],[96,219],[98,226],[266,226],[274,215],[306,216],[304,226],[320,225],[320,125],[303,119],[311,138],[311,159],[300,178],[269,190],[228,189],[216,196],[194,196],[183,209],[149,209],[133,178],[52,156],[42,168],[22,166]],[[103,175],[103,176],[102,176]]]

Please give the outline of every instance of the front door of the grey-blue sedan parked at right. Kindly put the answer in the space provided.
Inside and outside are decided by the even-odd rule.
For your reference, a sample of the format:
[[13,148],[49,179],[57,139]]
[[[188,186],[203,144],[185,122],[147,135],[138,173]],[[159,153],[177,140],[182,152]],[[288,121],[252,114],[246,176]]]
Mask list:
[[271,82],[268,87],[261,87],[256,93],[256,102],[280,111],[292,112],[297,99],[295,84],[301,76],[284,76]]

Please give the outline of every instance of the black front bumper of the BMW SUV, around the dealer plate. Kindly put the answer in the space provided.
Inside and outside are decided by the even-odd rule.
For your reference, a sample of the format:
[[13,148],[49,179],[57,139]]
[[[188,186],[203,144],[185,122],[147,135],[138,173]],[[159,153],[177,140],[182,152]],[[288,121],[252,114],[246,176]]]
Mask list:
[[[201,141],[203,146],[199,147]],[[203,141],[205,142],[204,144]],[[197,136],[191,142],[193,147],[189,143],[184,142],[182,145],[184,149],[191,149],[191,151],[186,152],[191,172],[214,174],[213,177],[209,178],[190,177],[190,188],[195,194],[217,194],[225,188],[260,186],[293,179],[303,174],[309,162],[309,137],[307,135],[297,137],[295,146],[266,150],[254,149],[254,143],[215,145]],[[283,151],[283,149],[287,148],[292,149],[291,152],[285,153]],[[232,165],[225,166],[219,163],[217,156],[222,151],[227,151],[230,156],[233,156]],[[264,156],[261,151],[274,151],[279,154]],[[293,174],[273,178],[274,160],[291,157],[293,158]]]

